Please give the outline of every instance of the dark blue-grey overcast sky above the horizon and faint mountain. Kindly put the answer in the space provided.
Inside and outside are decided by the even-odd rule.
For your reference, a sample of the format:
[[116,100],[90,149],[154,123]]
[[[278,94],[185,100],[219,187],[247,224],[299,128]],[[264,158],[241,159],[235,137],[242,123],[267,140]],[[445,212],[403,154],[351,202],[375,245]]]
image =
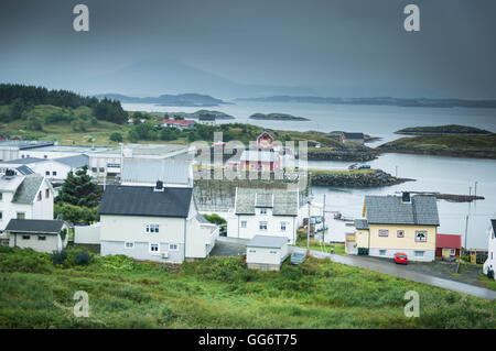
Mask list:
[[[89,7],[88,33],[73,30],[77,3]],[[408,3],[420,7],[418,33],[403,30]],[[77,89],[82,77],[173,59],[320,96],[496,98],[495,18],[494,0],[1,0],[0,81]],[[120,90],[149,94],[144,83]],[[80,90],[110,87],[99,84]]]

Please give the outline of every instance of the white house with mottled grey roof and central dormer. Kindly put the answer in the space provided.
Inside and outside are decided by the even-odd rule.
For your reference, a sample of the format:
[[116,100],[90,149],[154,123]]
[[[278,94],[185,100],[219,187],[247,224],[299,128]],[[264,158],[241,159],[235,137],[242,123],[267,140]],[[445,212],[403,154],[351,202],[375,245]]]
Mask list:
[[296,242],[299,191],[285,188],[237,188],[234,212],[227,219],[227,237],[283,237]]

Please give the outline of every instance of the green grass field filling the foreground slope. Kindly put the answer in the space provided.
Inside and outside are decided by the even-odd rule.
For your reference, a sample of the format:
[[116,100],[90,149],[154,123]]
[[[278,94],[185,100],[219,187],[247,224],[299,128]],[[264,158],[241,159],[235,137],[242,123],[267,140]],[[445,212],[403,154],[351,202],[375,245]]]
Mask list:
[[[239,257],[161,266],[91,255],[63,265],[47,254],[0,249],[0,328],[494,328],[496,305],[463,294],[309,259],[280,272]],[[89,318],[73,315],[76,290]],[[420,317],[403,297],[420,295]]]

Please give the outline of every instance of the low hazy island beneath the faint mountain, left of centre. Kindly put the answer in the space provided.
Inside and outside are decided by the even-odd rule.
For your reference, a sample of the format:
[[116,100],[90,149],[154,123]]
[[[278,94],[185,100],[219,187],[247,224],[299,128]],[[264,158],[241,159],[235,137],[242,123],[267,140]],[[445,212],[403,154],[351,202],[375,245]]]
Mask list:
[[220,99],[213,98],[208,95],[201,94],[179,94],[179,95],[161,95],[159,97],[137,98],[121,94],[100,94],[98,98],[108,98],[128,103],[155,103],[160,106],[183,106],[183,107],[214,107],[225,105]]

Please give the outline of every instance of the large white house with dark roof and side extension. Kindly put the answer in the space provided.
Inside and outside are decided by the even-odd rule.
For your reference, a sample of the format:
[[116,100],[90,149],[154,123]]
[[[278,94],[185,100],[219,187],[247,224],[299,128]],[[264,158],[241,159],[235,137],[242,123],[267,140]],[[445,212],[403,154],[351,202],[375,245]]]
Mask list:
[[198,216],[191,187],[109,185],[98,212],[101,255],[180,263],[208,256],[218,235]]

